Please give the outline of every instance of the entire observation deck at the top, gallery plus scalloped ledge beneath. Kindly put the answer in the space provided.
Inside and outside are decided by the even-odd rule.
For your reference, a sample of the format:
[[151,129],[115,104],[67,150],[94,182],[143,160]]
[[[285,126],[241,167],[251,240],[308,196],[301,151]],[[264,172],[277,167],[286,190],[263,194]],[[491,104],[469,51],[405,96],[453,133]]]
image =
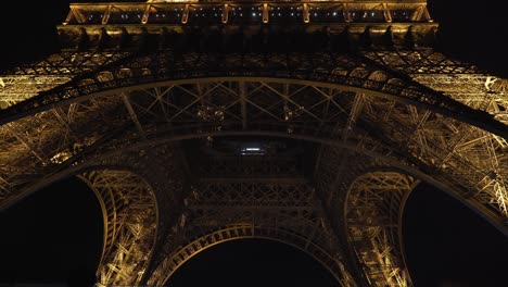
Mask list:
[[63,48],[86,42],[124,50],[151,35],[214,33],[247,40],[259,34],[347,34],[352,42],[367,38],[374,46],[431,46],[436,28],[426,1],[395,0],[72,3],[58,26]]

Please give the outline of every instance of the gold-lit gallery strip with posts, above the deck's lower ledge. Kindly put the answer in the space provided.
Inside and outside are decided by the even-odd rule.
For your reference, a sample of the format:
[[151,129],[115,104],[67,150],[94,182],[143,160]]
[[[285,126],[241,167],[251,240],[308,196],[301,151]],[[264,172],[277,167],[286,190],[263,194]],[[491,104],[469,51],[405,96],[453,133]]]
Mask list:
[[424,1],[147,1],[71,4],[64,25],[432,22]]

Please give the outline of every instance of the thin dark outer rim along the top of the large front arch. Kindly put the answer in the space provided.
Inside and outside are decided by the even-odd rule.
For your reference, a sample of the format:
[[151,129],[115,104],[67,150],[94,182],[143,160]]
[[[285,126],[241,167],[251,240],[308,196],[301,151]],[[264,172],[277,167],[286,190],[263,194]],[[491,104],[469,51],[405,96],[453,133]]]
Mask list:
[[[355,72],[357,68],[353,70]],[[151,72],[150,72],[151,73]],[[97,79],[85,78],[75,86],[67,85],[56,90],[42,92],[35,98],[30,98],[17,105],[0,110],[0,125],[13,122],[24,116],[38,112],[48,111],[55,107],[80,102],[92,97],[103,97],[110,95],[122,95],[131,90],[167,87],[177,85],[188,85],[213,82],[265,82],[276,84],[306,85],[320,88],[332,88],[354,93],[366,93],[371,97],[393,100],[404,104],[416,105],[437,114],[468,123],[472,126],[488,130],[497,136],[508,138],[506,125],[494,120],[487,113],[474,110],[460,102],[454,101],[437,91],[419,87],[417,83],[405,83],[398,78],[392,78],[382,71],[368,71],[368,73],[357,76],[343,75],[341,73],[317,73],[315,71],[295,71],[288,74],[288,71],[272,71],[272,76],[261,73],[217,75],[214,72],[201,71],[198,75],[175,76],[166,75],[154,77],[152,74],[132,78],[118,78],[111,72],[99,72]],[[220,74],[220,73],[219,73]],[[104,76],[106,75],[106,76]],[[416,86],[415,86],[416,85]]]

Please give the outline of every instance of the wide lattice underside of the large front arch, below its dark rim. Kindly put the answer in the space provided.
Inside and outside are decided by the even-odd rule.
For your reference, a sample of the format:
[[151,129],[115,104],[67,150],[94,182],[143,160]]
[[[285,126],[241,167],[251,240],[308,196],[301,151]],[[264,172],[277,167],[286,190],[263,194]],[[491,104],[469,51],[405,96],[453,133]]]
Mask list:
[[[58,132],[59,125],[48,125],[51,120],[55,123],[60,121],[52,110],[9,123],[2,126],[4,140],[23,152],[20,153],[22,157],[9,154],[7,159],[12,157],[10,166],[26,169],[21,170],[20,174],[7,173],[12,176],[10,183],[21,182],[18,178],[26,178],[28,172],[54,173],[65,166],[84,164],[87,159],[100,159],[114,154],[116,150],[149,148],[150,145],[158,145],[156,142],[209,136],[272,135],[341,147],[350,151],[346,153],[350,157],[360,153],[388,164],[399,162],[397,167],[416,170],[437,183],[444,183],[494,222],[503,221],[506,212],[506,187],[501,179],[506,174],[506,164],[503,165],[503,158],[496,155],[498,152],[503,154],[501,137],[432,110],[395,99],[372,97],[367,91],[344,91],[341,86],[333,88],[318,83],[310,86],[287,79],[242,79],[244,80],[223,78],[220,82],[174,82],[165,86],[122,89],[104,96],[98,93],[82,102],[62,105],[59,109],[71,110],[71,107],[90,102],[97,104],[91,105],[93,113],[87,113],[88,118],[94,120],[90,121],[93,125],[79,123],[82,133],[71,142],[82,142],[93,133],[97,138],[84,146],[82,150],[72,152],[68,150],[69,145],[60,146],[62,149],[58,150],[60,147],[53,144],[55,141],[49,140],[60,138],[62,134]],[[241,92],[242,89],[245,90],[244,93]],[[242,110],[246,112],[242,114]],[[30,121],[33,117],[46,121]],[[42,122],[47,125],[40,125]],[[26,128],[26,125],[38,129]],[[34,130],[34,135],[37,130],[37,137],[28,141],[24,137],[29,133],[24,133],[24,137],[21,137],[20,133],[12,132],[15,128]],[[66,133],[71,130],[64,124],[60,128]],[[104,132],[97,134],[98,130]],[[115,134],[109,130],[123,132]],[[49,141],[41,135],[48,136],[46,140]],[[35,145],[35,139],[41,144]],[[485,142],[488,145],[484,145]],[[51,162],[55,154],[65,154],[64,151],[68,152],[66,161]],[[341,157],[338,154],[335,158]],[[29,162],[35,167],[17,164],[22,161]],[[345,162],[339,162],[338,166],[344,164]],[[499,175],[496,173],[494,177],[491,166],[497,169]],[[38,177],[37,173],[34,177],[36,176]],[[9,179],[3,178],[4,182]],[[18,187],[22,190],[23,185],[20,184]],[[16,195],[12,189],[5,190],[7,196]]]

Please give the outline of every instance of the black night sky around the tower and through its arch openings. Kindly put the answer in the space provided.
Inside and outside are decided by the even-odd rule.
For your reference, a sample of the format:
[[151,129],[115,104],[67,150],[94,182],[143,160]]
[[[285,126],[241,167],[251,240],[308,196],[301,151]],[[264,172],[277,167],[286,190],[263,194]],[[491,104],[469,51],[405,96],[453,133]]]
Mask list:
[[[7,2],[0,20],[0,68],[54,51],[54,25],[64,20],[68,1]],[[429,8],[441,25],[442,52],[508,77],[508,25],[496,1],[472,5],[434,0]],[[78,286],[93,276],[102,244],[101,213],[94,195],[77,179],[50,186],[1,213],[0,226],[0,286],[20,282]],[[429,187],[415,191],[403,229],[417,287],[507,286],[508,239],[443,192]],[[330,275],[295,251],[266,240],[219,245],[190,260],[172,283],[331,286]]]

